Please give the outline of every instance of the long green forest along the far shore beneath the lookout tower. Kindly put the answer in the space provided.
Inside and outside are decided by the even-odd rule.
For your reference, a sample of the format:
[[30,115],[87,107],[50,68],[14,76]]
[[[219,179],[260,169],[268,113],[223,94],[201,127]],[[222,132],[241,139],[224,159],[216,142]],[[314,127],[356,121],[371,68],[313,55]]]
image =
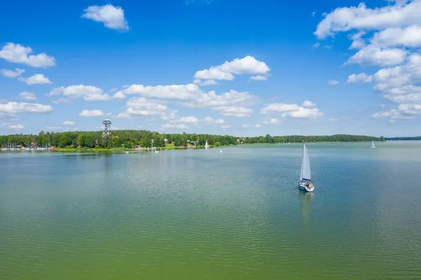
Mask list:
[[34,134],[15,134],[0,136],[2,147],[86,147],[86,148],[112,148],[112,147],[165,147],[172,143],[175,147],[203,146],[206,141],[211,146],[239,145],[239,144],[265,144],[283,142],[363,142],[384,141],[385,138],[364,135],[287,135],[287,136],[256,136],[235,137],[231,135],[210,134],[168,134],[141,130],[112,131],[109,137],[102,138],[102,131],[71,131],[71,132],[44,132]]

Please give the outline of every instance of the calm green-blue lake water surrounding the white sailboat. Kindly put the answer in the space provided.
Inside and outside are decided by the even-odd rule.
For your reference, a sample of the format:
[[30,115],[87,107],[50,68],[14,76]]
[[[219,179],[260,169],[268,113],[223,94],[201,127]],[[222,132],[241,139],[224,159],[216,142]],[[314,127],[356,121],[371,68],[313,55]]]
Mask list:
[[421,142],[0,152],[0,279],[421,279]]

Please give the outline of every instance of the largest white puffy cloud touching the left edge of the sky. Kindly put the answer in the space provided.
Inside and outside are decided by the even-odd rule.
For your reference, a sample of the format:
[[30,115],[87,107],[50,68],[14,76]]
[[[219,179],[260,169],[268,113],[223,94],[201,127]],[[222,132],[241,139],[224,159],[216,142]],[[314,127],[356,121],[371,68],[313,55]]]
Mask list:
[[20,44],[8,43],[0,51],[0,58],[8,62],[21,63],[32,67],[49,67],[55,64],[55,58],[45,53],[29,55],[32,48],[21,46]]

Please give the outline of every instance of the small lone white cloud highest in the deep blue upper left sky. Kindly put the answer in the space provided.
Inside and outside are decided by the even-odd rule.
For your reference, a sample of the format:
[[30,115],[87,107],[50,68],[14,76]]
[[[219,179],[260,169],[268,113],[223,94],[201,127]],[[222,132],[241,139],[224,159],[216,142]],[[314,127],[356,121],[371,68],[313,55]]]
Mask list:
[[114,30],[128,30],[127,20],[121,7],[110,4],[104,6],[89,6],[84,10],[82,18],[104,23],[105,27]]

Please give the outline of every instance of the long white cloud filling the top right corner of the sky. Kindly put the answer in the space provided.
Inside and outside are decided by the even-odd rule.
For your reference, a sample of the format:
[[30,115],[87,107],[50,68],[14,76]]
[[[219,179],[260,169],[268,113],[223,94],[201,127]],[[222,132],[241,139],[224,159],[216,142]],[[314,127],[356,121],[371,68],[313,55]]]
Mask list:
[[367,8],[366,4],[359,6],[336,8],[324,14],[323,20],[317,25],[314,34],[319,39],[333,36],[337,32],[347,32],[352,29],[386,29],[421,24],[421,1],[413,0],[407,5],[385,6],[383,8]]

